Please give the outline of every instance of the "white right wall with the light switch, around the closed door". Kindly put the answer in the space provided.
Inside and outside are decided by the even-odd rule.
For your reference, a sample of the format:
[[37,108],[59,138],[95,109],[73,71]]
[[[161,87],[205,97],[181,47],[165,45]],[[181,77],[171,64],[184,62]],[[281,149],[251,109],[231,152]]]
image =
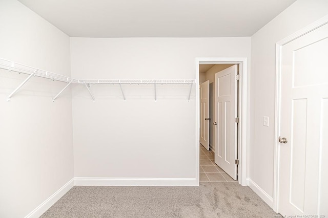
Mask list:
[[[275,43],[328,14],[327,0],[298,0],[252,36],[250,178],[273,197]],[[269,116],[270,126],[263,126]]]

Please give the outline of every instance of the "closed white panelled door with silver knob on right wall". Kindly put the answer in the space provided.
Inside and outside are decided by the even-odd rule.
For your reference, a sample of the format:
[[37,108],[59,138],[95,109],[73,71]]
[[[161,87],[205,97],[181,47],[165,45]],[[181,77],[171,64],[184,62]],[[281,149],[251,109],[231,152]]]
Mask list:
[[328,215],[328,24],[281,54],[278,211]]

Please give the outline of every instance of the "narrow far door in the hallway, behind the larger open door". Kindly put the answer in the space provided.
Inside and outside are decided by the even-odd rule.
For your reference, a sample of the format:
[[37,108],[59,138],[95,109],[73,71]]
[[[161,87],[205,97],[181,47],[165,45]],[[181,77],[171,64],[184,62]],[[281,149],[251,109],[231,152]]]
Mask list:
[[210,118],[210,81],[200,84],[200,143],[210,150],[209,144],[209,118]]

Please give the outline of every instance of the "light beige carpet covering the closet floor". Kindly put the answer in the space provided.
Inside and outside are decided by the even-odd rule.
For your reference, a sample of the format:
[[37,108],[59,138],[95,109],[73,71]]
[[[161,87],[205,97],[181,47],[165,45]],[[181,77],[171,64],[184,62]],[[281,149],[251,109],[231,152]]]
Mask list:
[[41,217],[278,217],[249,187],[74,186]]

